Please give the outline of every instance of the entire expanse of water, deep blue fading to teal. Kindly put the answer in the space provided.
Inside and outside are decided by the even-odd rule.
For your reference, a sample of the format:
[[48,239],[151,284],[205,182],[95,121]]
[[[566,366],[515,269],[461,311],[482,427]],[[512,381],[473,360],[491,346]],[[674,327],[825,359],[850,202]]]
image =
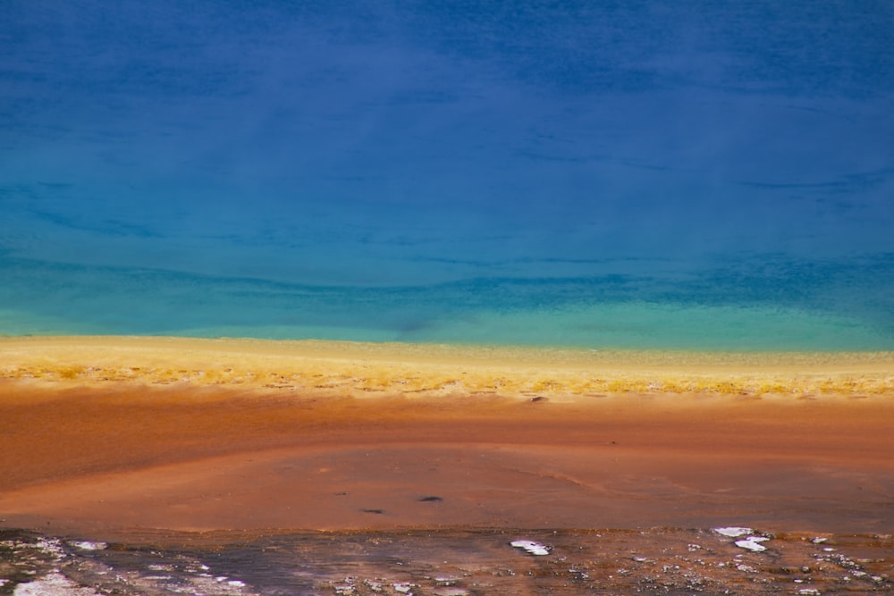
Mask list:
[[890,3],[3,9],[0,334],[894,349]]

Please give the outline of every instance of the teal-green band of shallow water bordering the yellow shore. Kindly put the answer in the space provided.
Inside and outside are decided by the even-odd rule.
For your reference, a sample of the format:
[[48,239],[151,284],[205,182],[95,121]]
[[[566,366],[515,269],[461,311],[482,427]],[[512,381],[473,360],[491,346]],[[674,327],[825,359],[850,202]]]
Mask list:
[[[894,262],[763,261],[683,279],[309,286],[5,260],[6,334],[423,341],[589,348],[889,350]],[[778,271],[770,273],[775,267]]]

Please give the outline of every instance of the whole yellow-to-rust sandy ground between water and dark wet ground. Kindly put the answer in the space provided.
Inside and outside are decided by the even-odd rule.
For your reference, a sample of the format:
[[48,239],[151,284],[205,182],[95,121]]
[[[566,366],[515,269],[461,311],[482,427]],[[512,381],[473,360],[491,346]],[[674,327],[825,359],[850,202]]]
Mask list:
[[890,533],[892,362],[0,340],[0,525]]

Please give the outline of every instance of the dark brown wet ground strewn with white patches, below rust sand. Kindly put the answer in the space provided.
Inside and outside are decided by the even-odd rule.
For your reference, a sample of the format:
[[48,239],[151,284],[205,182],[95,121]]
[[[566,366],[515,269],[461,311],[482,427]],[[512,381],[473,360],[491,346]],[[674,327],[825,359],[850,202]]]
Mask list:
[[0,593],[894,593],[894,535],[717,530],[144,532],[106,541],[4,530]]

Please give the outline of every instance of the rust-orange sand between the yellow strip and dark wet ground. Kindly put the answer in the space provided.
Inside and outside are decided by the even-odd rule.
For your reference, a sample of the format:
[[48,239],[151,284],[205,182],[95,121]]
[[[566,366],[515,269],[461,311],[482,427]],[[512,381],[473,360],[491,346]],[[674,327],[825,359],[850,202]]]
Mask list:
[[890,532],[894,403],[0,382],[6,526]]

